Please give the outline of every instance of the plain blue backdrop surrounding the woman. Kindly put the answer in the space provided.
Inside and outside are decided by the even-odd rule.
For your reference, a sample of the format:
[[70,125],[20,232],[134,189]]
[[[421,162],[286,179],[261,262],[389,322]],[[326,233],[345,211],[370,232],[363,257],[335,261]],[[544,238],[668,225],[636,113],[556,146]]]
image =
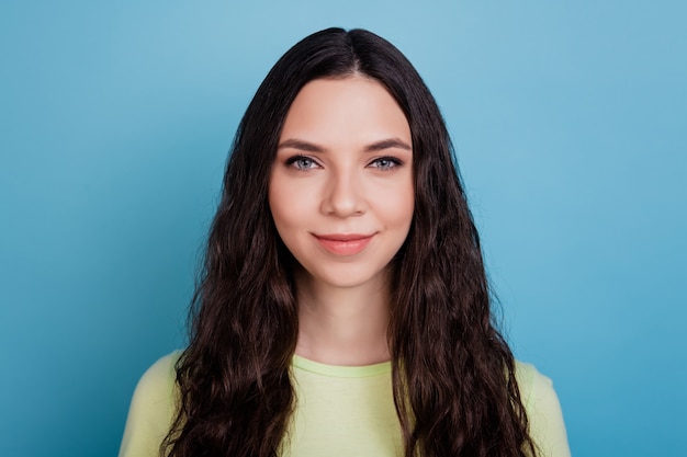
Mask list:
[[0,455],[116,454],[137,378],[183,344],[238,119],[330,25],[436,95],[573,454],[687,455],[685,3],[238,3],[0,5]]

